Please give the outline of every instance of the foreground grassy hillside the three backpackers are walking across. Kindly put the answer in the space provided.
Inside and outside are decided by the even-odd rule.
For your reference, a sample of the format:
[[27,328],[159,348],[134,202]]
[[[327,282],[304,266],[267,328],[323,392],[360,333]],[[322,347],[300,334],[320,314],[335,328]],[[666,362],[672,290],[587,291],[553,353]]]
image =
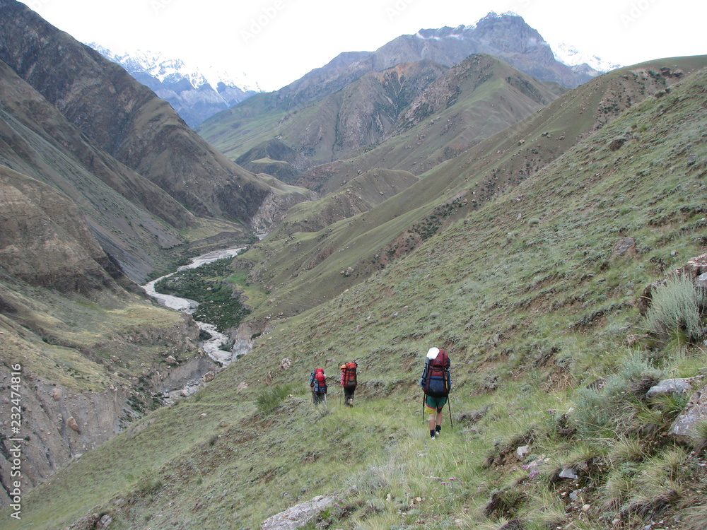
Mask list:
[[[61,528],[105,511],[115,529],[255,528],[296,502],[333,492],[338,506],[327,517],[335,528],[499,528],[513,516],[534,527],[550,519],[553,526],[611,526],[617,508],[602,493],[609,491],[605,474],[583,483],[589,521],[579,509],[572,514],[562,495],[568,490],[547,487],[583,447],[598,451],[561,437],[557,413],[573,405],[575,388],[617,372],[631,353],[629,338],[644,326],[632,302],[643,287],[705,252],[706,83],[701,72],[636,105],[512,196],[469,212],[365,283],[281,322],[199,394],[156,411],[35,488],[22,524],[6,527]],[[633,137],[610,151],[609,142],[627,130]],[[638,252],[614,257],[626,235]],[[450,351],[455,381],[455,428],[445,425],[436,444],[425,439],[414,385],[431,345]],[[651,355],[677,375],[694,375],[707,362],[701,350]],[[280,367],[284,357],[292,360],[288,369]],[[356,408],[339,408],[334,387],[328,411],[314,411],[309,370],[322,365],[336,377],[347,358],[362,368]],[[255,413],[259,383],[270,381],[293,384],[293,397]],[[249,389],[238,390],[242,382]],[[547,459],[539,475],[547,481],[531,480],[509,456],[531,428],[531,459]],[[503,456],[504,447],[506,463],[498,458],[488,468],[488,457]],[[661,457],[657,451],[648,456]],[[648,465],[644,457],[618,458],[612,465]],[[687,457],[682,463],[691,466]],[[665,474],[658,471],[653,482],[660,485]],[[681,477],[688,497],[678,501],[692,487]],[[648,486],[633,487],[638,495]],[[486,502],[504,492],[515,495],[503,497],[507,513],[489,510]]]

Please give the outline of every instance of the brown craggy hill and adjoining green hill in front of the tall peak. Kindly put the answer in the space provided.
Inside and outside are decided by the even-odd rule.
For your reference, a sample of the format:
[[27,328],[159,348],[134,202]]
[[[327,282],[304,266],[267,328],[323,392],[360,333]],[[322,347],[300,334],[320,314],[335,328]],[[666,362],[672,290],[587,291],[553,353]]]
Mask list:
[[[296,168],[289,168],[288,182],[326,193],[377,167],[420,175],[538,110],[564,90],[504,61],[474,54],[450,69],[423,60],[369,71],[296,111],[260,114],[257,128],[215,123],[213,129],[204,124],[200,132],[221,148],[235,142],[267,143],[275,136],[308,161],[300,164],[300,177]],[[238,107],[233,115],[238,115]],[[247,158],[237,160],[245,163]]]

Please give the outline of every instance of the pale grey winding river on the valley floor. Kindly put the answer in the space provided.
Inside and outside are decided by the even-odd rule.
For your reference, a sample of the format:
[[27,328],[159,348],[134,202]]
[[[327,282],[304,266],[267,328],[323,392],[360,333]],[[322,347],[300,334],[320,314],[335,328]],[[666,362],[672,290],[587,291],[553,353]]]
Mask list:
[[[179,271],[185,271],[186,269],[196,269],[201,265],[211,263],[211,261],[216,261],[217,259],[235,257],[236,255],[238,255],[238,252],[240,252],[240,250],[243,250],[243,248],[245,247],[215,250],[214,252],[201,254],[201,256],[197,256],[192,259],[192,262],[188,265],[181,266],[179,269],[177,269],[177,271],[170,274],[165,274],[165,276],[161,276],[156,280],[148,282],[142,287],[148,295],[160,302],[160,304],[166,305],[167,307],[171,307],[173,310],[192,314],[194,312],[194,308],[199,305],[199,302],[189,300],[189,298],[179,298],[178,296],[163,295],[162,293],[158,293],[155,290],[155,284],[162,278],[169,278],[170,276],[173,276],[173,274],[176,274]],[[201,331],[205,331],[207,334],[211,335],[211,338],[209,338],[209,340],[200,342],[199,346],[201,346],[201,348],[203,348],[204,351],[209,355],[209,357],[213,359],[216,363],[219,363],[223,366],[228,365],[228,363],[230,363],[233,358],[233,353],[230,351],[222,350],[221,346],[223,346],[223,343],[228,342],[229,337],[217,331],[216,326],[214,326],[214,324],[199,321],[194,322],[197,322],[197,326],[199,326],[199,329],[201,329]]]

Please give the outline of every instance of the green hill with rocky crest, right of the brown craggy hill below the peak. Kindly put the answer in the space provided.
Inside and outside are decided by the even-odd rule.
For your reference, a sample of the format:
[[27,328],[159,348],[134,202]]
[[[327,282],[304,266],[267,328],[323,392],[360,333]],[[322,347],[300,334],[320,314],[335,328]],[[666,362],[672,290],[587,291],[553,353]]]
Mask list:
[[542,83],[504,61],[474,54],[453,66],[400,112],[382,141],[349,157],[312,167],[299,184],[332,191],[373,167],[422,175],[445,160],[537,112],[566,91]]

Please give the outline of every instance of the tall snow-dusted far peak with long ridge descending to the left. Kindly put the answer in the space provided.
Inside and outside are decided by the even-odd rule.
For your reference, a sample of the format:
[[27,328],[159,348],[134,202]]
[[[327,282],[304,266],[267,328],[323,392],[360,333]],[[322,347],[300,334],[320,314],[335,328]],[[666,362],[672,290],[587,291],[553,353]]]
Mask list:
[[[375,52],[341,54],[274,93],[256,95],[216,114],[197,131],[233,160],[274,138],[307,155],[315,164],[330,162],[363,146],[375,146],[390,132],[397,113],[412,102],[414,95],[450,66],[481,53],[502,59],[539,81],[573,87],[592,78],[556,61],[547,42],[520,16],[489,13],[476,25],[420,30],[415,35],[397,37]],[[410,65],[426,65],[426,71],[435,65],[437,70],[434,74],[420,71],[415,77],[415,70],[421,66]],[[385,76],[397,76],[397,81]],[[385,90],[374,89],[375,79]],[[402,101],[397,96],[391,98],[396,86],[403,90]],[[361,94],[360,108],[356,106],[357,94]],[[337,98],[341,99],[341,108],[332,109],[332,100]],[[370,117],[371,123],[357,123],[360,116]],[[286,122],[293,117],[310,125],[291,127]],[[332,135],[334,127],[336,137]]]

